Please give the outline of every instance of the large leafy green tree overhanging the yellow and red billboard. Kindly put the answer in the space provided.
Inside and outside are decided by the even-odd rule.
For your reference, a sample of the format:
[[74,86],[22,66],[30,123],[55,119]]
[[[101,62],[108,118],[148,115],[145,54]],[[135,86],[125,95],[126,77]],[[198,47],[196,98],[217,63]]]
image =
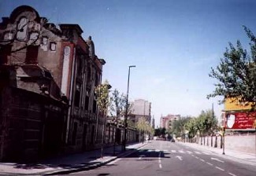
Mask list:
[[[217,79],[213,94],[207,97],[232,97],[242,102],[256,105],[256,38],[247,27],[243,26],[250,39],[250,52],[243,49],[239,42],[236,47],[229,42],[224,58],[216,69],[211,68],[210,77]],[[224,100],[223,100],[224,101]],[[222,101],[222,102],[223,102]]]

